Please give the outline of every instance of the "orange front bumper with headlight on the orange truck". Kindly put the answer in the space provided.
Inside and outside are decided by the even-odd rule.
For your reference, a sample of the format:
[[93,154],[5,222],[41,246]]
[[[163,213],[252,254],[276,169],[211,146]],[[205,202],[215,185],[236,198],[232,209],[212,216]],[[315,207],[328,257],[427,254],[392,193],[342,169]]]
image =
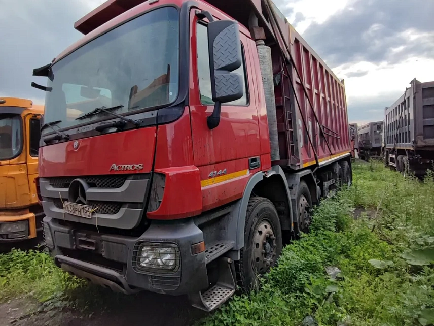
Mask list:
[[[37,216],[27,211],[0,211],[0,242],[14,242],[36,237]],[[19,231],[12,231],[16,225],[25,225]],[[2,230],[4,229],[4,230]]]

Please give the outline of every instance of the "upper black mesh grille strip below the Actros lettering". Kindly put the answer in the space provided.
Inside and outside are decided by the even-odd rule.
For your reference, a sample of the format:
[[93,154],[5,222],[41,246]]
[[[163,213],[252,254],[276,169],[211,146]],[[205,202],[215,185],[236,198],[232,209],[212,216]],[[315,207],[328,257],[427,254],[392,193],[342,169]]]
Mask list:
[[89,188],[115,189],[122,187],[127,177],[127,175],[55,177],[48,180],[54,188],[68,188],[73,180],[80,178],[88,184]]

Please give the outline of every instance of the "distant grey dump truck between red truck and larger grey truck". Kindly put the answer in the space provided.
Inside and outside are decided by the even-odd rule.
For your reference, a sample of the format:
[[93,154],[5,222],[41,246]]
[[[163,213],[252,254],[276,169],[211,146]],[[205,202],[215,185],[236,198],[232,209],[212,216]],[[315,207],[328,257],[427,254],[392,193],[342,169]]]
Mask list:
[[357,127],[359,158],[369,161],[382,157],[383,124],[383,121],[376,121]]

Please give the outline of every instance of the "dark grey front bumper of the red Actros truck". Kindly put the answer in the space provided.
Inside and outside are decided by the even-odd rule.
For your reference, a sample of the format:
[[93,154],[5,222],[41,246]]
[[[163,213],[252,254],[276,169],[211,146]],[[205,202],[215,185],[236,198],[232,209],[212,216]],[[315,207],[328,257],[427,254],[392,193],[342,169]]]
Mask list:
[[[56,265],[78,277],[127,294],[144,289],[184,295],[208,287],[205,252],[193,254],[191,250],[192,245],[203,241],[193,219],[152,221],[139,237],[78,230],[51,217],[45,217],[44,223],[54,242],[50,251]],[[173,272],[138,270],[135,259],[140,242],[176,244],[179,266]]]

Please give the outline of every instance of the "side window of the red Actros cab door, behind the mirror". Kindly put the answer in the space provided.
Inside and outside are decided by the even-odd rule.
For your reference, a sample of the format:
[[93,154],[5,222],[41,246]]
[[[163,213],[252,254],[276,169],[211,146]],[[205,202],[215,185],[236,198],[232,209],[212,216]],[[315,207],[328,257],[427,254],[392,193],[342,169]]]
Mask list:
[[[197,74],[199,78],[200,102],[203,105],[214,104],[211,93],[211,76],[209,72],[209,51],[208,51],[208,27],[198,22],[196,26],[196,47],[197,47]],[[244,69],[244,48],[241,43],[242,63],[241,67],[234,70],[234,73],[240,74],[243,81],[243,96],[241,99],[225,103],[224,105],[239,105],[245,106],[248,104],[247,95],[247,77]]]

